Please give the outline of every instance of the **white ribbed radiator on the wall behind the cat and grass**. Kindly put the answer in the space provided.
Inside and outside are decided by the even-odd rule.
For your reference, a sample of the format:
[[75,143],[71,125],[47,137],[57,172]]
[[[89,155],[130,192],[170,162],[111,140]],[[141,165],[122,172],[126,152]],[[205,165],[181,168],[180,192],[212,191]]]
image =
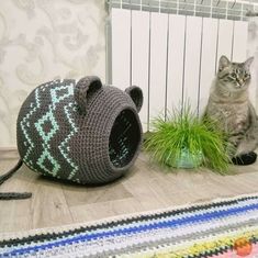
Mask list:
[[[221,55],[244,61],[246,21],[111,9],[112,85],[144,92],[144,131],[157,115],[189,100],[203,111]],[[250,88],[255,102],[255,87]]]

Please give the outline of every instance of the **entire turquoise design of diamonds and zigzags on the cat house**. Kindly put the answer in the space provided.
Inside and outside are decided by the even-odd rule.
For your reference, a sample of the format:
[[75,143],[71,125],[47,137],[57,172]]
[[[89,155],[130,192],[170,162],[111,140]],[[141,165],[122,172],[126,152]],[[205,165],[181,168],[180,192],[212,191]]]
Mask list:
[[[69,82],[68,82],[69,83]],[[22,130],[22,134],[24,135],[24,146],[25,146],[25,155],[23,156],[23,161],[33,170],[37,171],[36,164],[42,169],[42,172],[51,173],[54,177],[58,177],[58,172],[61,169],[60,164],[58,164],[58,159],[54,149],[51,148],[51,142],[53,137],[59,132],[61,124],[58,124],[58,120],[56,119],[56,111],[57,106],[61,106],[64,109],[63,114],[65,117],[64,121],[69,125],[69,133],[64,135],[64,141],[59,143],[57,146],[58,148],[58,156],[60,155],[69,164],[69,178],[74,179],[75,175],[77,173],[78,166],[75,164],[72,158],[69,156],[69,141],[72,136],[78,132],[78,127],[76,126],[72,113],[74,113],[74,103],[72,102],[65,102],[67,98],[74,94],[74,83],[68,85],[66,81],[53,81],[46,85],[43,85],[35,89],[33,94],[33,100],[29,103],[27,113],[22,117],[20,122],[20,126]],[[41,109],[43,101],[40,100],[42,92],[48,91],[51,97],[51,103],[47,105],[46,111],[44,112],[37,121],[33,121],[33,117],[37,114],[37,110]],[[48,93],[44,93],[48,94]],[[40,112],[41,113],[41,112]],[[48,131],[45,131],[45,125],[48,124]],[[49,127],[51,126],[51,127]],[[67,125],[66,125],[67,126]],[[38,136],[41,137],[41,142],[38,142],[42,147],[43,152],[37,157],[36,164],[34,164],[32,155],[33,150],[35,149],[36,139],[33,139],[31,133],[32,130],[36,128]],[[47,165],[52,165],[53,167],[48,167]]]

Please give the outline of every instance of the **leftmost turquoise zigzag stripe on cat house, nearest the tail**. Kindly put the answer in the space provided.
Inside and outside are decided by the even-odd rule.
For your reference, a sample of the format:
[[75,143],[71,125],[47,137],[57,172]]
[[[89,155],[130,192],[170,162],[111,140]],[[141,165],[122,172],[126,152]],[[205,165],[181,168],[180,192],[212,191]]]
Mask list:
[[[36,104],[36,105],[35,105]],[[40,100],[38,100],[38,89],[35,90],[35,102],[32,102],[31,103],[31,108],[33,108],[24,117],[23,120],[21,121],[20,125],[22,127],[22,132],[26,138],[26,142],[24,142],[24,145],[29,145],[27,147],[27,152],[23,158],[23,160],[30,165],[32,165],[31,160],[29,159],[30,157],[30,154],[32,152],[32,149],[34,148],[34,143],[32,142],[32,139],[30,138],[29,136],[29,133],[26,131],[26,126],[27,128],[30,128],[30,117],[32,116],[32,114],[41,106],[41,103],[40,103]]]

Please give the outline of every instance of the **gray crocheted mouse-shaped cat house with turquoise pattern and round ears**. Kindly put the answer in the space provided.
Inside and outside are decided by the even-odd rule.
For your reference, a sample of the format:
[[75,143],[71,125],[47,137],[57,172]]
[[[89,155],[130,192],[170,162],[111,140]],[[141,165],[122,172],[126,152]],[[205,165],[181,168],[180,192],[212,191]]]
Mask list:
[[98,77],[54,80],[26,98],[18,149],[34,171],[78,183],[112,181],[134,164],[142,144],[143,93],[102,86]]

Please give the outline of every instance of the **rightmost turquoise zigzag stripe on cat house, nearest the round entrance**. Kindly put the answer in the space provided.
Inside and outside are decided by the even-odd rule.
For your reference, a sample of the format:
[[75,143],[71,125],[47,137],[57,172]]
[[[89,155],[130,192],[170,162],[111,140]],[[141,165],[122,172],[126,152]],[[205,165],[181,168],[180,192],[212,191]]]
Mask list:
[[[74,120],[71,119],[70,116],[70,113],[68,111],[68,106],[69,108],[72,108],[72,103],[69,103],[68,105],[65,105],[65,114],[66,114],[66,117],[67,120],[69,121],[69,124],[71,126],[71,131],[70,133],[66,136],[65,141],[58,146],[61,155],[66,158],[66,160],[70,164],[70,166],[74,168],[68,177],[68,179],[72,179],[72,177],[76,175],[76,172],[78,171],[78,166],[76,166],[72,160],[69,158],[68,156],[68,147],[67,147],[67,144],[69,142],[69,139],[71,138],[71,136],[75,135],[75,133],[78,132],[78,128],[76,127],[76,124],[74,123]],[[65,152],[67,149],[67,153]]]

